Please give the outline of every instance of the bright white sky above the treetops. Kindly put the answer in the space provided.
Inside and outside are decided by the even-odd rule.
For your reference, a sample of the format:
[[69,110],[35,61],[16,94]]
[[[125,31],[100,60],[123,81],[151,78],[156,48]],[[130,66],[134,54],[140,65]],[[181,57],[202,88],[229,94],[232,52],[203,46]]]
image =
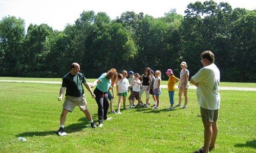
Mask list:
[[[196,0],[200,1],[200,0]],[[105,12],[111,19],[115,19],[123,12],[143,12],[155,18],[176,9],[178,14],[184,11],[193,0],[0,0],[0,18],[15,16],[25,20],[26,30],[29,24],[46,23],[54,30],[62,31],[67,24],[74,24],[83,11],[93,10],[95,14]],[[200,1],[204,2],[204,1]],[[256,9],[253,0],[215,0],[217,4],[227,2],[234,8]]]

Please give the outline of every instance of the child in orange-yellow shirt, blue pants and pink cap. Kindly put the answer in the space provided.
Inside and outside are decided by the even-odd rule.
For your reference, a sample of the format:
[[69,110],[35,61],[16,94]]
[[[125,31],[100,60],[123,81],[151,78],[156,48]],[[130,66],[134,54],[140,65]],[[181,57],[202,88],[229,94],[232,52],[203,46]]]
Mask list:
[[175,86],[177,82],[180,80],[174,76],[173,70],[167,69],[166,75],[169,77],[168,79],[168,93],[169,93],[169,99],[170,99],[170,107],[167,108],[168,111],[174,110],[174,92],[175,92]]

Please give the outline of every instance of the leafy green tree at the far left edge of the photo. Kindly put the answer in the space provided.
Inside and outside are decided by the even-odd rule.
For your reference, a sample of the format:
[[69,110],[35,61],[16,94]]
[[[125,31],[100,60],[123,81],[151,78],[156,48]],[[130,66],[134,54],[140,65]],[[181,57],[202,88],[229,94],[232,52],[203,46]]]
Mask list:
[[0,21],[0,74],[18,75],[19,56],[23,55],[25,22],[21,18],[6,16]]

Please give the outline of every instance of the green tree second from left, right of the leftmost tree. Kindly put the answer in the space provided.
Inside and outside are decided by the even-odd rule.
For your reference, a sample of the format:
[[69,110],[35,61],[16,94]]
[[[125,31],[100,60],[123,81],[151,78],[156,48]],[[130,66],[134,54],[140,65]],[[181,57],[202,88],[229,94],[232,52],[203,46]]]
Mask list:
[[51,52],[53,37],[53,30],[47,24],[29,25],[24,42],[25,55],[20,63],[23,65],[24,74],[30,73],[31,77],[47,77],[51,73],[46,59]]

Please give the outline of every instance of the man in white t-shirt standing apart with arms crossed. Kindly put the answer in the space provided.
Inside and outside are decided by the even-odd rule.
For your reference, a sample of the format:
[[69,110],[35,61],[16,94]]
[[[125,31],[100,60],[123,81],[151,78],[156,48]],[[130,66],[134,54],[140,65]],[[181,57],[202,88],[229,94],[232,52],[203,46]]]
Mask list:
[[190,80],[191,84],[197,86],[197,98],[204,125],[204,146],[195,152],[209,152],[214,149],[218,134],[220,70],[214,61],[215,56],[209,50],[201,53],[204,67]]

